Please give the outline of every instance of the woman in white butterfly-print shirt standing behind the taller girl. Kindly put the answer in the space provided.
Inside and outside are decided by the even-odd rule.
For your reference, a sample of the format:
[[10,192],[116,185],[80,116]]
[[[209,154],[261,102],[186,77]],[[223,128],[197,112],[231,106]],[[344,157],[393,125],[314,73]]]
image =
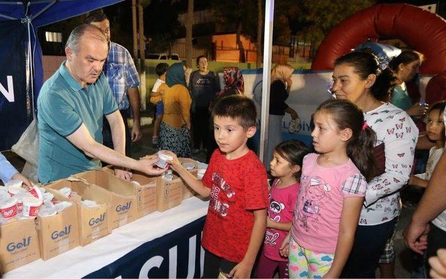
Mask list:
[[399,189],[409,179],[418,129],[403,110],[386,103],[392,73],[380,73],[369,52],[351,52],[334,61],[332,92],[351,100],[376,133],[378,172],[369,182],[355,244],[341,277],[374,278],[378,260],[399,216]]

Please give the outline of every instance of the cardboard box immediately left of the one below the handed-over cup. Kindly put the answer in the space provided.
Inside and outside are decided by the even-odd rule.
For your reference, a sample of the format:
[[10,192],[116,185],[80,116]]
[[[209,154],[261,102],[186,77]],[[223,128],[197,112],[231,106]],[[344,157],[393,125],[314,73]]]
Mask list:
[[[102,167],[102,170],[114,175],[111,165]],[[134,193],[137,195],[139,216],[146,216],[148,213],[156,211],[156,176],[148,176],[147,174],[133,171],[132,181],[137,181],[140,184],[131,183]]]

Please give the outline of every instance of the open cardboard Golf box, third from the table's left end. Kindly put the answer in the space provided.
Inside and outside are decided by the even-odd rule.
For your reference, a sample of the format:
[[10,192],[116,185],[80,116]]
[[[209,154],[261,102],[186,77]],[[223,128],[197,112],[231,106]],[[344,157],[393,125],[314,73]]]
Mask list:
[[[70,179],[70,180],[68,180]],[[47,191],[55,196],[59,190],[69,187],[76,194],[72,194],[72,198],[68,199],[60,195],[61,200],[68,202],[73,201],[77,205],[77,221],[79,224],[79,243],[86,246],[93,241],[100,239],[112,232],[110,205],[108,203],[108,191],[98,186],[86,184],[77,181],[76,178],[70,177],[45,185]],[[95,207],[82,206],[82,199],[90,199],[99,205]]]

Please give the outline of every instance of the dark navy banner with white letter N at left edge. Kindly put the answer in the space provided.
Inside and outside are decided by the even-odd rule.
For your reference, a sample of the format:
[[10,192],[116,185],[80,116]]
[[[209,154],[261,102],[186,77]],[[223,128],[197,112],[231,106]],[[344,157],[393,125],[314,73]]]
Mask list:
[[0,151],[10,149],[32,119],[26,86],[26,24],[0,22]]

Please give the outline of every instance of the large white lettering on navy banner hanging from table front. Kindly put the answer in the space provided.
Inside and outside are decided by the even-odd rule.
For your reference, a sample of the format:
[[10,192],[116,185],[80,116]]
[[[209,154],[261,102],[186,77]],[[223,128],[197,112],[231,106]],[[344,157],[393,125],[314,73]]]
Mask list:
[[[194,235],[189,239],[189,259],[187,262],[187,278],[194,278],[195,273],[195,250],[197,245],[197,236]],[[176,264],[177,264],[177,252],[178,246],[174,246],[169,249],[169,278],[176,278]],[[160,268],[164,257],[155,256],[151,257],[144,263],[139,271],[139,278],[148,278],[148,273],[153,268]],[[204,250],[201,248],[200,252],[200,275],[203,276],[203,262],[204,262]],[[200,276],[200,277],[201,277]]]

